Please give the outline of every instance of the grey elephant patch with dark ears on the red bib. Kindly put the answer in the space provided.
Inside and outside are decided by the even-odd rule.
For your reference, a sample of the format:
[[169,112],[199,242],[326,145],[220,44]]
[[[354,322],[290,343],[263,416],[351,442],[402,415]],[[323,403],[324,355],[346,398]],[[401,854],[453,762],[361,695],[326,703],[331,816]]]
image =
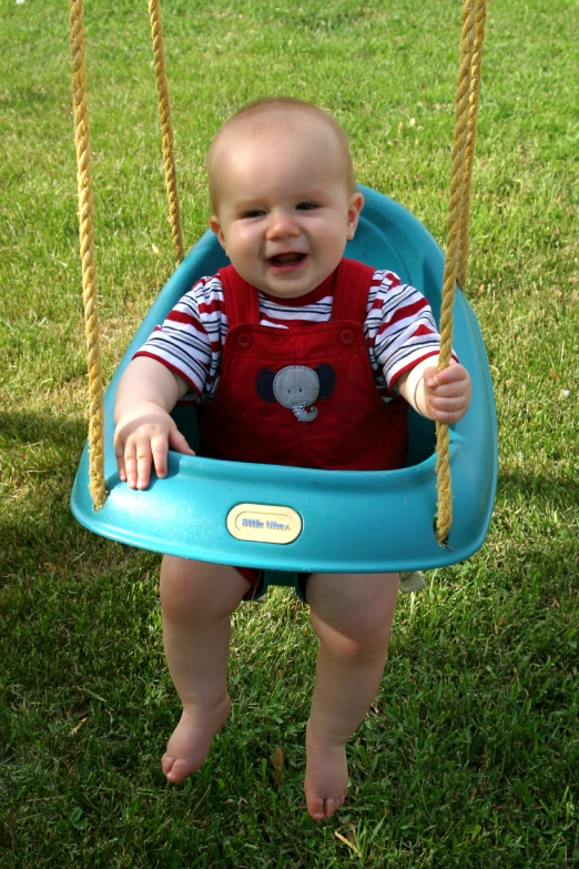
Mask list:
[[326,363],[316,368],[307,365],[287,365],[277,373],[264,368],[255,383],[257,395],[264,402],[278,402],[293,411],[301,423],[311,423],[317,416],[317,400],[328,398],[336,385],[336,373]]

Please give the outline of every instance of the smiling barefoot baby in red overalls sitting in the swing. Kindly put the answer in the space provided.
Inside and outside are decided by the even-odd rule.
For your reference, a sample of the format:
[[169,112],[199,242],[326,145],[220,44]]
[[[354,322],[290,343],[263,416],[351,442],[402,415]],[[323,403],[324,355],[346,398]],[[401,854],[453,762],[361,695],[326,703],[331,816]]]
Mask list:
[[[232,264],[201,279],[124,372],[121,479],[145,488],[153,467],[166,475],[169,448],[193,455],[170,416],[183,398],[197,403],[205,455],[322,468],[404,466],[408,404],[443,423],[464,416],[470,378],[456,361],[437,372],[424,296],[344,259],[364,200],[331,115],[252,103],[216,134],[207,174],[210,226]],[[228,716],[230,614],[258,587],[258,570],[163,558],[164,649],[183,704],[162,758],[170,781],[201,767]],[[346,742],[378,689],[397,590],[395,574],[299,576],[319,638],[304,784],[315,819],[344,802]]]

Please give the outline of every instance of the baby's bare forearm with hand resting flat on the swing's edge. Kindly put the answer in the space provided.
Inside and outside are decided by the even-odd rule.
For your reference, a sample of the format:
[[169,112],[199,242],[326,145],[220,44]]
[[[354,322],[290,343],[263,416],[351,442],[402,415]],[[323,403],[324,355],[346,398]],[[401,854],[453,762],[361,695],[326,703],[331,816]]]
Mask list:
[[119,476],[131,488],[146,488],[152,466],[166,476],[169,447],[195,455],[170,416],[189,390],[161,362],[138,356],[129,363],[116,390],[114,453]]

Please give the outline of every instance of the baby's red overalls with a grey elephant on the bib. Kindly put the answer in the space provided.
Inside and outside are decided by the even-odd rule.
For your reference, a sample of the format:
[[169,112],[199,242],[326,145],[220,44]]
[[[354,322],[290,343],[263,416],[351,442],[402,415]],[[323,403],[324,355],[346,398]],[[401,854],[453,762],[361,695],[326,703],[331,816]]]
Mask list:
[[[328,281],[329,322],[275,329],[260,325],[255,287],[233,266],[220,270],[228,332],[215,397],[199,413],[204,455],[327,469],[405,465],[407,404],[383,402],[364,337],[373,275],[342,260]],[[245,597],[258,594],[262,572],[237,570],[251,585]]]

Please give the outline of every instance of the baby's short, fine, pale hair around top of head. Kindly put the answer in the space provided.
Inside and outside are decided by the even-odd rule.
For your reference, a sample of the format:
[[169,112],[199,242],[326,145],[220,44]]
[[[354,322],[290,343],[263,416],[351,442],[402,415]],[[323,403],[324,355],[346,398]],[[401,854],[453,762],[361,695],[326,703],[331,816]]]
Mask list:
[[317,105],[305,102],[304,100],[296,100],[293,97],[265,97],[264,99],[247,103],[247,105],[244,105],[238,112],[232,114],[216,133],[209,146],[206,160],[207,182],[211,204],[214,212],[217,210],[215,159],[217,145],[222,135],[244,121],[252,121],[255,128],[262,127],[263,129],[271,130],[275,129],[276,125],[287,125],[288,121],[298,119],[299,115],[315,118],[333,132],[343,161],[345,181],[352,192],[356,190],[356,179],[354,176],[354,165],[349,153],[348,138],[336,119],[333,118],[329,112],[324,111],[324,109],[319,109]]

